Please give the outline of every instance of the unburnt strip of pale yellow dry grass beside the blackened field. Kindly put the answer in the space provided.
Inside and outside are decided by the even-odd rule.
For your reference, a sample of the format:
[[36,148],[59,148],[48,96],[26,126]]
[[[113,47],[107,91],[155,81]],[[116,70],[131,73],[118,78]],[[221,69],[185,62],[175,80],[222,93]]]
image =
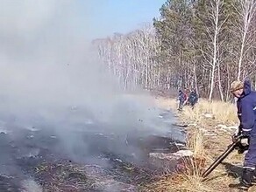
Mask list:
[[[231,144],[231,134],[238,127],[236,106],[219,101],[199,100],[194,110],[185,106],[177,111],[177,101],[156,98],[161,108],[173,110],[182,125],[187,125],[188,147],[194,152],[193,161],[185,163],[185,171],[164,175],[159,182],[150,185],[151,191],[238,191],[230,184],[238,183],[245,154],[233,151],[207,178],[200,176],[217,157]],[[249,191],[256,191],[252,187]]]

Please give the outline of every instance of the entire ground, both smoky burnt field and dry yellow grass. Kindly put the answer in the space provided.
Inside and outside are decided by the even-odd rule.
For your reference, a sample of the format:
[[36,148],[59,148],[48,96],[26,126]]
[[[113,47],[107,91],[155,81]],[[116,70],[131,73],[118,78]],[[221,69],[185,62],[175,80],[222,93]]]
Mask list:
[[[139,96],[139,99],[142,102],[152,101],[153,98]],[[86,127],[93,130],[93,132],[88,132],[87,129],[81,129],[85,125],[82,126],[79,120],[75,121],[75,124],[71,121],[73,115],[75,120],[80,114],[83,117],[83,111],[79,113],[78,110],[68,112],[71,120],[65,118],[63,125],[58,125],[61,130],[67,125],[73,127],[72,134],[69,133],[68,137],[64,138],[70,141],[72,138],[81,138],[84,141],[82,145],[71,145],[75,150],[75,153],[71,153],[72,156],[75,155],[73,158],[70,158],[68,148],[66,148],[67,151],[63,150],[63,138],[61,139],[61,135],[57,132],[54,133],[52,127],[40,129],[36,124],[35,127],[18,128],[15,127],[16,124],[6,124],[9,125],[8,130],[11,131],[10,128],[13,127],[15,132],[4,133],[3,131],[0,134],[0,149],[4,154],[0,158],[0,191],[21,191],[20,186],[24,185],[20,185],[19,182],[24,181],[24,188],[30,188],[33,192],[42,191],[41,189],[74,192],[103,190],[111,192],[236,191],[230,189],[229,184],[238,182],[240,166],[244,158],[243,154],[238,154],[236,151],[231,153],[224,163],[207,177],[206,181],[202,181],[200,176],[203,170],[210,166],[210,163],[231,144],[231,134],[238,126],[235,106],[200,100],[194,110],[186,106],[182,112],[178,113],[174,99],[156,98],[153,101],[162,108],[162,113],[157,120],[170,117],[165,121],[167,129],[171,128],[172,131],[175,129],[171,124],[173,113],[170,111],[177,116],[181,128],[186,129],[187,144],[194,153],[192,158],[182,161],[172,159],[173,162],[160,161],[152,166],[151,161],[146,163],[145,154],[156,148],[166,149],[167,146],[169,147],[169,140],[166,141],[155,135],[138,138],[140,134],[136,132],[124,134],[122,131],[124,135],[110,134],[103,131],[108,128],[107,125],[86,122]],[[149,132],[148,129],[146,129],[147,132]],[[87,146],[86,150],[84,146]],[[140,152],[143,153],[137,153],[134,147],[141,149]],[[169,150],[169,154],[173,154],[176,149],[170,148]],[[159,154],[158,152],[155,154]],[[79,160],[84,161],[81,163]],[[140,163],[140,160],[143,160],[143,163]],[[170,167],[166,167],[167,165]],[[176,167],[174,165],[178,165],[179,170],[175,174],[174,169],[171,169]],[[163,170],[160,170],[162,167]]]

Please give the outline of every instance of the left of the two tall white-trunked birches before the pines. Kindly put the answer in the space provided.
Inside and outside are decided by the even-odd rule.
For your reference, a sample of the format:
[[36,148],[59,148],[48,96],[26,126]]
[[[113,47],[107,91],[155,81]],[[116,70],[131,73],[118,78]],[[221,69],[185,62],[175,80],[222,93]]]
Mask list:
[[[214,88],[216,85],[216,71],[218,89],[221,95],[221,99],[224,100],[222,88],[220,84],[220,59],[221,59],[221,46],[223,40],[220,38],[224,23],[227,17],[223,16],[224,0],[210,0],[208,3],[204,3],[205,11],[199,14],[201,20],[201,26],[205,29],[205,41],[201,46],[201,52],[204,58],[203,67],[209,68],[209,96],[208,99],[212,99]],[[203,15],[202,15],[203,14]],[[197,44],[200,42],[196,42]],[[203,47],[202,47],[203,46]]]

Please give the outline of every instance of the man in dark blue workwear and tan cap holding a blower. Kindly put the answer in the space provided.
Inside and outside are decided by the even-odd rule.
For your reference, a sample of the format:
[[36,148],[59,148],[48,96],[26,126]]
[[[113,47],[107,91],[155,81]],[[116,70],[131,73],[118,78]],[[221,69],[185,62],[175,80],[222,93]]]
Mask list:
[[243,174],[238,189],[247,190],[255,183],[256,168],[256,92],[252,91],[251,82],[234,81],[231,84],[231,93],[238,99],[238,135],[248,139],[248,152],[245,154]]

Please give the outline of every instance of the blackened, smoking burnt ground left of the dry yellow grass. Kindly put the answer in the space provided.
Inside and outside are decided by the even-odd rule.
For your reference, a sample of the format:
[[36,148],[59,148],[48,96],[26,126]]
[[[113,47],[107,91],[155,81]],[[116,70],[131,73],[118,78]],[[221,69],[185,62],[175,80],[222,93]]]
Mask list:
[[[168,112],[161,115],[171,117]],[[70,120],[34,127],[12,119],[4,122],[8,131],[0,134],[0,191],[22,191],[26,180],[37,182],[43,191],[139,191],[162,171],[148,154],[179,150],[167,136],[134,129],[108,132],[103,131],[108,125],[83,128]],[[71,126],[75,129],[67,134],[64,129]]]

